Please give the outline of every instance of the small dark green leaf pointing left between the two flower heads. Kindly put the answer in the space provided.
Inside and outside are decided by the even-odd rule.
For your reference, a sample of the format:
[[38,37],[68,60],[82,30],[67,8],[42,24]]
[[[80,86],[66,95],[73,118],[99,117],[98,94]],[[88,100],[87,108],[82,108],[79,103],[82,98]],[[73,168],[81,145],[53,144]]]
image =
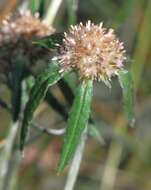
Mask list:
[[37,44],[47,49],[57,49],[58,44],[61,44],[63,40],[63,33],[55,33],[47,37],[43,37],[33,41],[33,44]]

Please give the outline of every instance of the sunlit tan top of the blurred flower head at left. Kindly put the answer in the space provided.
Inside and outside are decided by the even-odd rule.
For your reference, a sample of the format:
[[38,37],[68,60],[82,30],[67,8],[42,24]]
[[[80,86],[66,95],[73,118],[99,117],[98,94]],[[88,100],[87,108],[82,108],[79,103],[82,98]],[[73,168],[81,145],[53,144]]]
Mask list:
[[7,17],[0,28],[0,43],[15,42],[19,38],[32,39],[52,34],[54,29],[39,19],[39,14],[20,11],[16,17]]

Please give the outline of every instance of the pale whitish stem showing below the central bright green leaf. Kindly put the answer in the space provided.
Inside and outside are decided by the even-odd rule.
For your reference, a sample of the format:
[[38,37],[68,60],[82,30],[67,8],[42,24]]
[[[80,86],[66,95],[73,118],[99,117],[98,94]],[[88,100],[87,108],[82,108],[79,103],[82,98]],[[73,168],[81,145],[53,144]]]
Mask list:
[[75,155],[73,157],[64,190],[73,190],[73,188],[74,188],[74,185],[77,180],[78,173],[79,173],[79,169],[80,169],[80,164],[81,164],[86,140],[87,140],[87,127],[84,130],[84,132],[82,133],[81,141],[80,141],[80,143],[77,147],[77,150],[75,152]]

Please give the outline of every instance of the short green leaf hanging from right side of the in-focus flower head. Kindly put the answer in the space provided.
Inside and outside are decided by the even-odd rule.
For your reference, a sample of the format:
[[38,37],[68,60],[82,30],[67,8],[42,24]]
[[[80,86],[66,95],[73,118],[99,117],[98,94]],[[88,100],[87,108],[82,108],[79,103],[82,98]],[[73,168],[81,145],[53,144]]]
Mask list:
[[128,118],[129,124],[134,126],[134,94],[132,76],[127,70],[122,70],[119,72],[118,78],[123,92],[124,112]]

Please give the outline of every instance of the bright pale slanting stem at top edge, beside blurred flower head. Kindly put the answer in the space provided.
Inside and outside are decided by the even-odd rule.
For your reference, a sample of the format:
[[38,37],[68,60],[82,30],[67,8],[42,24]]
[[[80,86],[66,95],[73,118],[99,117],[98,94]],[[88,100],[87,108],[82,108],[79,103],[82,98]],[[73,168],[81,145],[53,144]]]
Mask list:
[[46,22],[50,26],[53,24],[61,3],[62,3],[62,0],[51,1],[49,8],[47,10],[46,16],[44,18],[44,22]]

